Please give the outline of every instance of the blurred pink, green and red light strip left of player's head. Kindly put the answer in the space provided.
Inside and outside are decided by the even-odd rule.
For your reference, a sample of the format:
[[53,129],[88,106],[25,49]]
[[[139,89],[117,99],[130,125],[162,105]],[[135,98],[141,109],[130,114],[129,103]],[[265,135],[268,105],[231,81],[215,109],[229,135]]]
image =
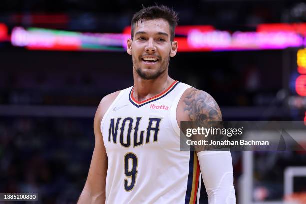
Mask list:
[[15,27],[11,34],[14,46],[31,50],[123,50],[124,34],[80,33],[40,28]]

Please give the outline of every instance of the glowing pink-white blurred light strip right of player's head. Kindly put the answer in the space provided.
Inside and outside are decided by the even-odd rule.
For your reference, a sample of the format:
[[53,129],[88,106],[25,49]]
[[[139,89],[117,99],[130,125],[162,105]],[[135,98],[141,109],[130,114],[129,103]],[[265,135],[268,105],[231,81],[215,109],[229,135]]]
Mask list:
[[227,31],[200,32],[191,30],[188,44],[192,48],[211,48],[220,50],[262,50],[285,49],[303,45],[303,37],[294,32],[234,32]]

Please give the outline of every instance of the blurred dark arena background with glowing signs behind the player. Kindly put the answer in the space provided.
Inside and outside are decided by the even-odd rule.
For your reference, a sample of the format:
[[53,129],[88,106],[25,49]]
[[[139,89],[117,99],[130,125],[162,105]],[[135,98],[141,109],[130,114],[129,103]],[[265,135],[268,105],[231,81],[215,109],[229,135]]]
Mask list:
[[[180,18],[170,76],[210,93],[223,120],[306,120],[303,0],[158,3]],[[1,0],[0,193],[77,201],[96,107],[133,84],[123,43],[141,4],[154,1]],[[232,157],[237,203],[306,203],[305,151]]]

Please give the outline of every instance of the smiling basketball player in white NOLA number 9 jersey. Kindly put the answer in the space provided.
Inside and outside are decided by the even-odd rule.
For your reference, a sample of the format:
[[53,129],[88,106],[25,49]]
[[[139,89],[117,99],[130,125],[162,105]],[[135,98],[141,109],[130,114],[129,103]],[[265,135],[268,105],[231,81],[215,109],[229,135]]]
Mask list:
[[181,151],[180,121],[220,121],[206,92],[168,75],[177,14],[166,6],[132,19],[127,53],[134,86],[105,96],[94,119],[95,147],[78,203],[196,203],[199,175],[209,203],[235,203],[229,151]]

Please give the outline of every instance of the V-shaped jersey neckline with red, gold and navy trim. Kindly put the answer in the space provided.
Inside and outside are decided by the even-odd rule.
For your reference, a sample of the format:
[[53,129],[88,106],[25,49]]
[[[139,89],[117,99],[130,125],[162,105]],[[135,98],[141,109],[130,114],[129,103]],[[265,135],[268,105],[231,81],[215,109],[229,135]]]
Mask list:
[[179,81],[174,81],[166,90],[164,90],[163,92],[159,93],[158,95],[155,95],[149,99],[143,100],[142,102],[137,101],[134,96],[133,96],[133,92],[134,92],[134,86],[133,88],[130,90],[129,92],[129,101],[135,105],[136,107],[141,107],[143,105],[146,105],[150,102],[159,100],[160,98],[163,98],[164,96],[166,96],[167,94],[169,94],[175,87],[176,85],[179,83]]

